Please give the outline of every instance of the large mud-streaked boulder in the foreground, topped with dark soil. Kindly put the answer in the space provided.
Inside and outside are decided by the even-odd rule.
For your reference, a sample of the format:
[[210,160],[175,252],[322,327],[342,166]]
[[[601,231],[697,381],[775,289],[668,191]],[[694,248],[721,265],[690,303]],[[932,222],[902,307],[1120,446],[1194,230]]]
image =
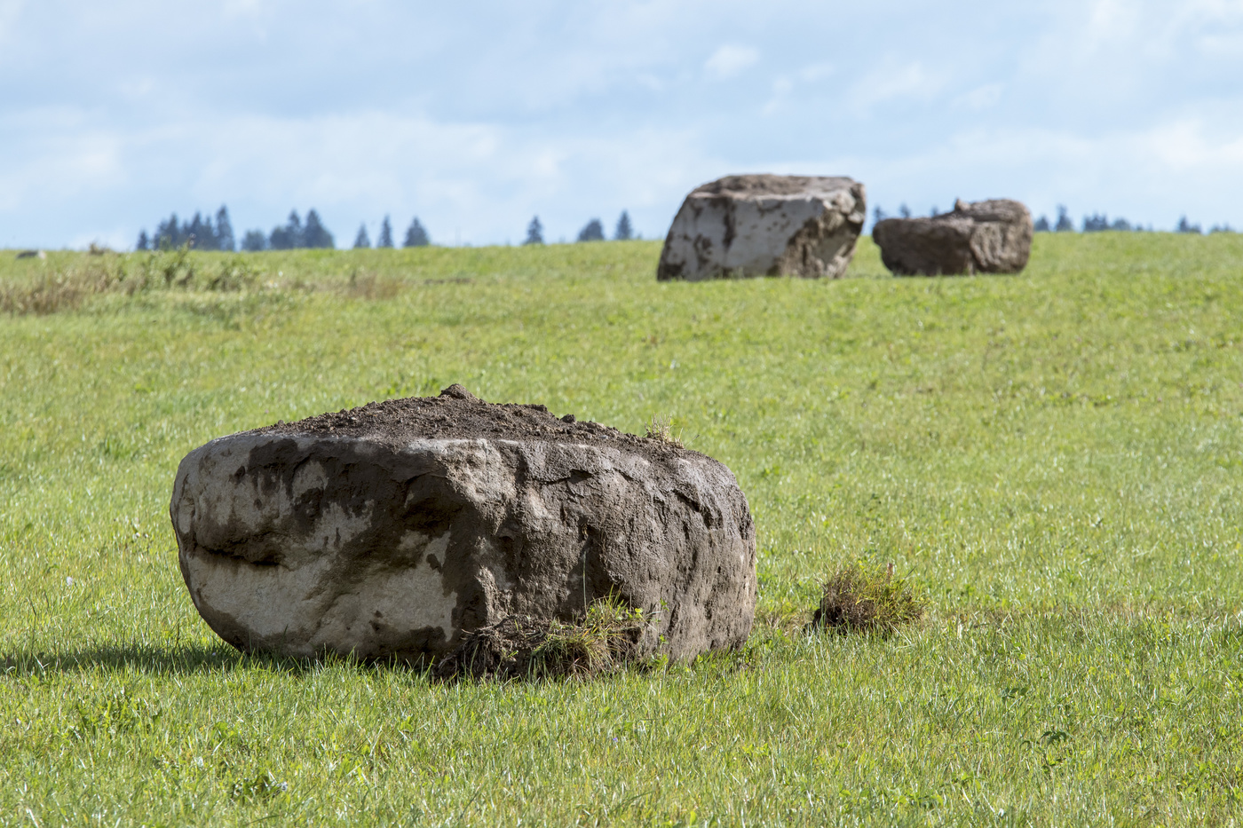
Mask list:
[[[643,653],[742,644],[756,538],[723,465],[457,385],[213,440],[170,506],[194,605],[242,650],[421,661],[609,594]],[[660,637],[664,637],[663,639]]]

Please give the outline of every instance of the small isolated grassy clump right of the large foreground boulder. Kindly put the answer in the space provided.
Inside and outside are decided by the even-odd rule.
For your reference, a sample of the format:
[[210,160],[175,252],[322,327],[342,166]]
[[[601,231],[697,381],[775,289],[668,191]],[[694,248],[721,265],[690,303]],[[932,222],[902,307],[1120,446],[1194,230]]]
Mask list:
[[824,584],[810,630],[888,635],[924,617],[925,600],[909,581],[894,577],[894,564],[843,567]]

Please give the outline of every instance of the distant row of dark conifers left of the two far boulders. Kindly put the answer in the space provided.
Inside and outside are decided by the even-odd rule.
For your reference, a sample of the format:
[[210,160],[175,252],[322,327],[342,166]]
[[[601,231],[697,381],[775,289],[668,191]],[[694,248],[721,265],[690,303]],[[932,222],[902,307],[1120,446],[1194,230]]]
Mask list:
[[[634,228],[630,224],[630,214],[623,210],[613,231],[613,239],[617,241],[628,241],[636,237],[640,236],[634,232]],[[579,230],[578,240],[604,241],[604,224],[599,219],[592,219]],[[419,216],[414,216],[410,226],[405,230],[401,246],[425,247],[430,244],[431,236],[428,235],[426,228],[419,221]],[[539,223],[538,215],[531,219],[531,224],[527,225],[527,236],[522,244],[544,244],[543,225]],[[247,230],[239,245],[234,239],[232,223],[229,220],[229,208],[224,205],[216,210],[215,221],[213,221],[210,215],[204,218],[201,213],[195,213],[194,218],[183,221],[173,213],[169,218],[155,225],[154,234],[147,235],[147,230],[143,229],[138,234],[138,244],[134,246],[137,250],[170,250],[186,245],[195,250],[234,251],[240,249],[250,252],[337,246],[333,235],[323,226],[323,221],[319,220],[319,214],[314,208],[307,211],[305,221],[297,210],[292,210],[285,224],[272,228],[271,232],[265,234],[262,230]],[[374,246],[378,249],[395,246],[393,241],[393,224],[387,215],[384,216],[384,221],[380,223],[380,231]],[[367,247],[372,247],[372,239],[367,232],[367,224],[364,223],[358,228],[358,234],[354,236],[354,250]]]

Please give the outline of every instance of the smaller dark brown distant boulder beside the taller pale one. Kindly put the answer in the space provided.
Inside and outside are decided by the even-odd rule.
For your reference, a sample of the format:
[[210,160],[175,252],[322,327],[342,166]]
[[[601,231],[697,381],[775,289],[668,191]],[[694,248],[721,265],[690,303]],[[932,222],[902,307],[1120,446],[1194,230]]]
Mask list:
[[931,219],[878,221],[871,237],[899,276],[1017,274],[1032,255],[1032,214],[1008,199],[960,199]]

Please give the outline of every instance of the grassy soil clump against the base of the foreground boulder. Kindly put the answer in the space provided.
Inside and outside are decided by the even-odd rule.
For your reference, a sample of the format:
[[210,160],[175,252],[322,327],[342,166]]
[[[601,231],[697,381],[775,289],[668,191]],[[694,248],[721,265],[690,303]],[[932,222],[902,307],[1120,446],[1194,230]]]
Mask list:
[[469,633],[431,675],[459,679],[564,679],[607,675],[636,664],[648,625],[641,609],[600,600],[582,623],[508,615]]

